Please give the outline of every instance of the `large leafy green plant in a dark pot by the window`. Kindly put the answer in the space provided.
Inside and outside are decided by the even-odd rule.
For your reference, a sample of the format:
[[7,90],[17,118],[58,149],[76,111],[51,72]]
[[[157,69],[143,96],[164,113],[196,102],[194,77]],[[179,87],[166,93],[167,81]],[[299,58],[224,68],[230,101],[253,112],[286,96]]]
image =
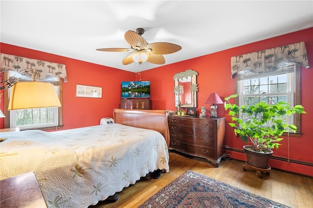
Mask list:
[[236,136],[240,136],[245,142],[250,141],[251,146],[244,146],[247,164],[260,169],[268,168],[268,160],[272,155],[272,148],[278,149],[279,142],[284,132],[289,130],[294,133],[297,130],[295,125],[290,125],[287,116],[295,113],[306,113],[302,105],[290,107],[289,103],[278,102],[267,104],[260,102],[254,105],[231,104],[229,99],[238,95],[231,95],[225,98],[224,108],[229,110]]

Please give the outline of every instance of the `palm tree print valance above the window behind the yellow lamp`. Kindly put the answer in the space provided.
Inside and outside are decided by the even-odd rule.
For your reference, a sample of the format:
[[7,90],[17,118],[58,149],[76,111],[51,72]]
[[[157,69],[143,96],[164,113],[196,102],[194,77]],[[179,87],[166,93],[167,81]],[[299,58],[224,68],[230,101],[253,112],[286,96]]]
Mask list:
[[0,53],[0,72],[3,71],[16,71],[36,80],[60,77],[67,82],[67,71],[64,64]]

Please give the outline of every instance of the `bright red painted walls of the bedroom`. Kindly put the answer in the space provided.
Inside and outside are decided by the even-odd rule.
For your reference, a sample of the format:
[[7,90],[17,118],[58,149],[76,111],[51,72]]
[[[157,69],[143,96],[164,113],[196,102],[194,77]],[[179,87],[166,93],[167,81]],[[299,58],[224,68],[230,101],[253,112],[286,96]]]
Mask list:
[[[224,100],[225,97],[234,94],[234,80],[230,77],[230,58],[232,56],[301,41],[305,42],[309,64],[313,65],[313,28],[309,28],[276,38],[230,48],[195,59],[142,71],[141,80],[151,81],[151,100],[153,101],[153,109],[175,110],[173,91],[174,75],[187,69],[197,71],[199,74],[197,76],[199,87],[197,114],[199,115],[201,106],[209,106],[208,104],[204,104],[204,102],[210,93],[218,93],[222,100]],[[64,129],[98,125],[101,117],[112,117],[113,108],[119,107],[121,81],[139,80],[137,73],[3,43],[1,43],[0,46],[1,53],[66,64],[68,82],[63,85]],[[171,55],[165,55],[165,60],[167,56]],[[296,163],[288,164],[284,161],[272,159],[269,162],[269,165],[272,167],[311,176],[313,176],[313,154],[311,154],[313,148],[313,125],[311,121],[313,115],[312,78],[312,66],[308,69],[301,69],[301,103],[307,112],[307,114],[301,115],[301,132],[303,135],[301,138],[289,138],[289,151],[288,138],[283,140],[282,146],[279,147],[278,151],[274,150],[275,156],[287,158],[289,155],[291,160],[306,162],[311,164],[311,166]],[[76,98],[76,84],[102,86],[103,98]],[[1,109],[3,109],[2,103],[3,102],[1,102]],[[231,148],[243,149],[242,146],[244,143],[240,139],[234,137],[233,129],[227,124],[231,120],[224,111],[223,105],[218,105],[218,115],[226,117],[226,145]],[[238,153],[236,151],[228,151],[227,153],[231,154],[232,158],[246,160],[243,153]]]

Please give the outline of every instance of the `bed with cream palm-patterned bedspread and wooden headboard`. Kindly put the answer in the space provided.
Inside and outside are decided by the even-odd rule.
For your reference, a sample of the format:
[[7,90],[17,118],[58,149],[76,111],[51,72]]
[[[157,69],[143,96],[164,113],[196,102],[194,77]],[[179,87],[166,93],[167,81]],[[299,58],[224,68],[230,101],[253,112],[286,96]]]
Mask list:
[[0,180],[33,171],[47,207],[95,205],[149,172],[169,171],[167,113],[114,109],[114,124],[1,133]]

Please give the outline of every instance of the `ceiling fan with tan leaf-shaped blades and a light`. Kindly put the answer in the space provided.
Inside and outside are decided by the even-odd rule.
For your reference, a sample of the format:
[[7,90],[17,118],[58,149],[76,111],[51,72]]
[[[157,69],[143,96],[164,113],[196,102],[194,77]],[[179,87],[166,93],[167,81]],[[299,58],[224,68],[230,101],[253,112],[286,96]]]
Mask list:
[[148,44],[141,35],[145,32],[143,28],[137,28],[136,32],[128,30],[124,38],[131,45],[131,48],[98,48],[98,51],[109,52],[133,52],[123,59],[123,64],[127,65],[133,62],[139,64],[147,61],[155,64],[164,64],[165,59],[162,55],[175,53],[181,49],[181,46],[169,42],[153,42]]

